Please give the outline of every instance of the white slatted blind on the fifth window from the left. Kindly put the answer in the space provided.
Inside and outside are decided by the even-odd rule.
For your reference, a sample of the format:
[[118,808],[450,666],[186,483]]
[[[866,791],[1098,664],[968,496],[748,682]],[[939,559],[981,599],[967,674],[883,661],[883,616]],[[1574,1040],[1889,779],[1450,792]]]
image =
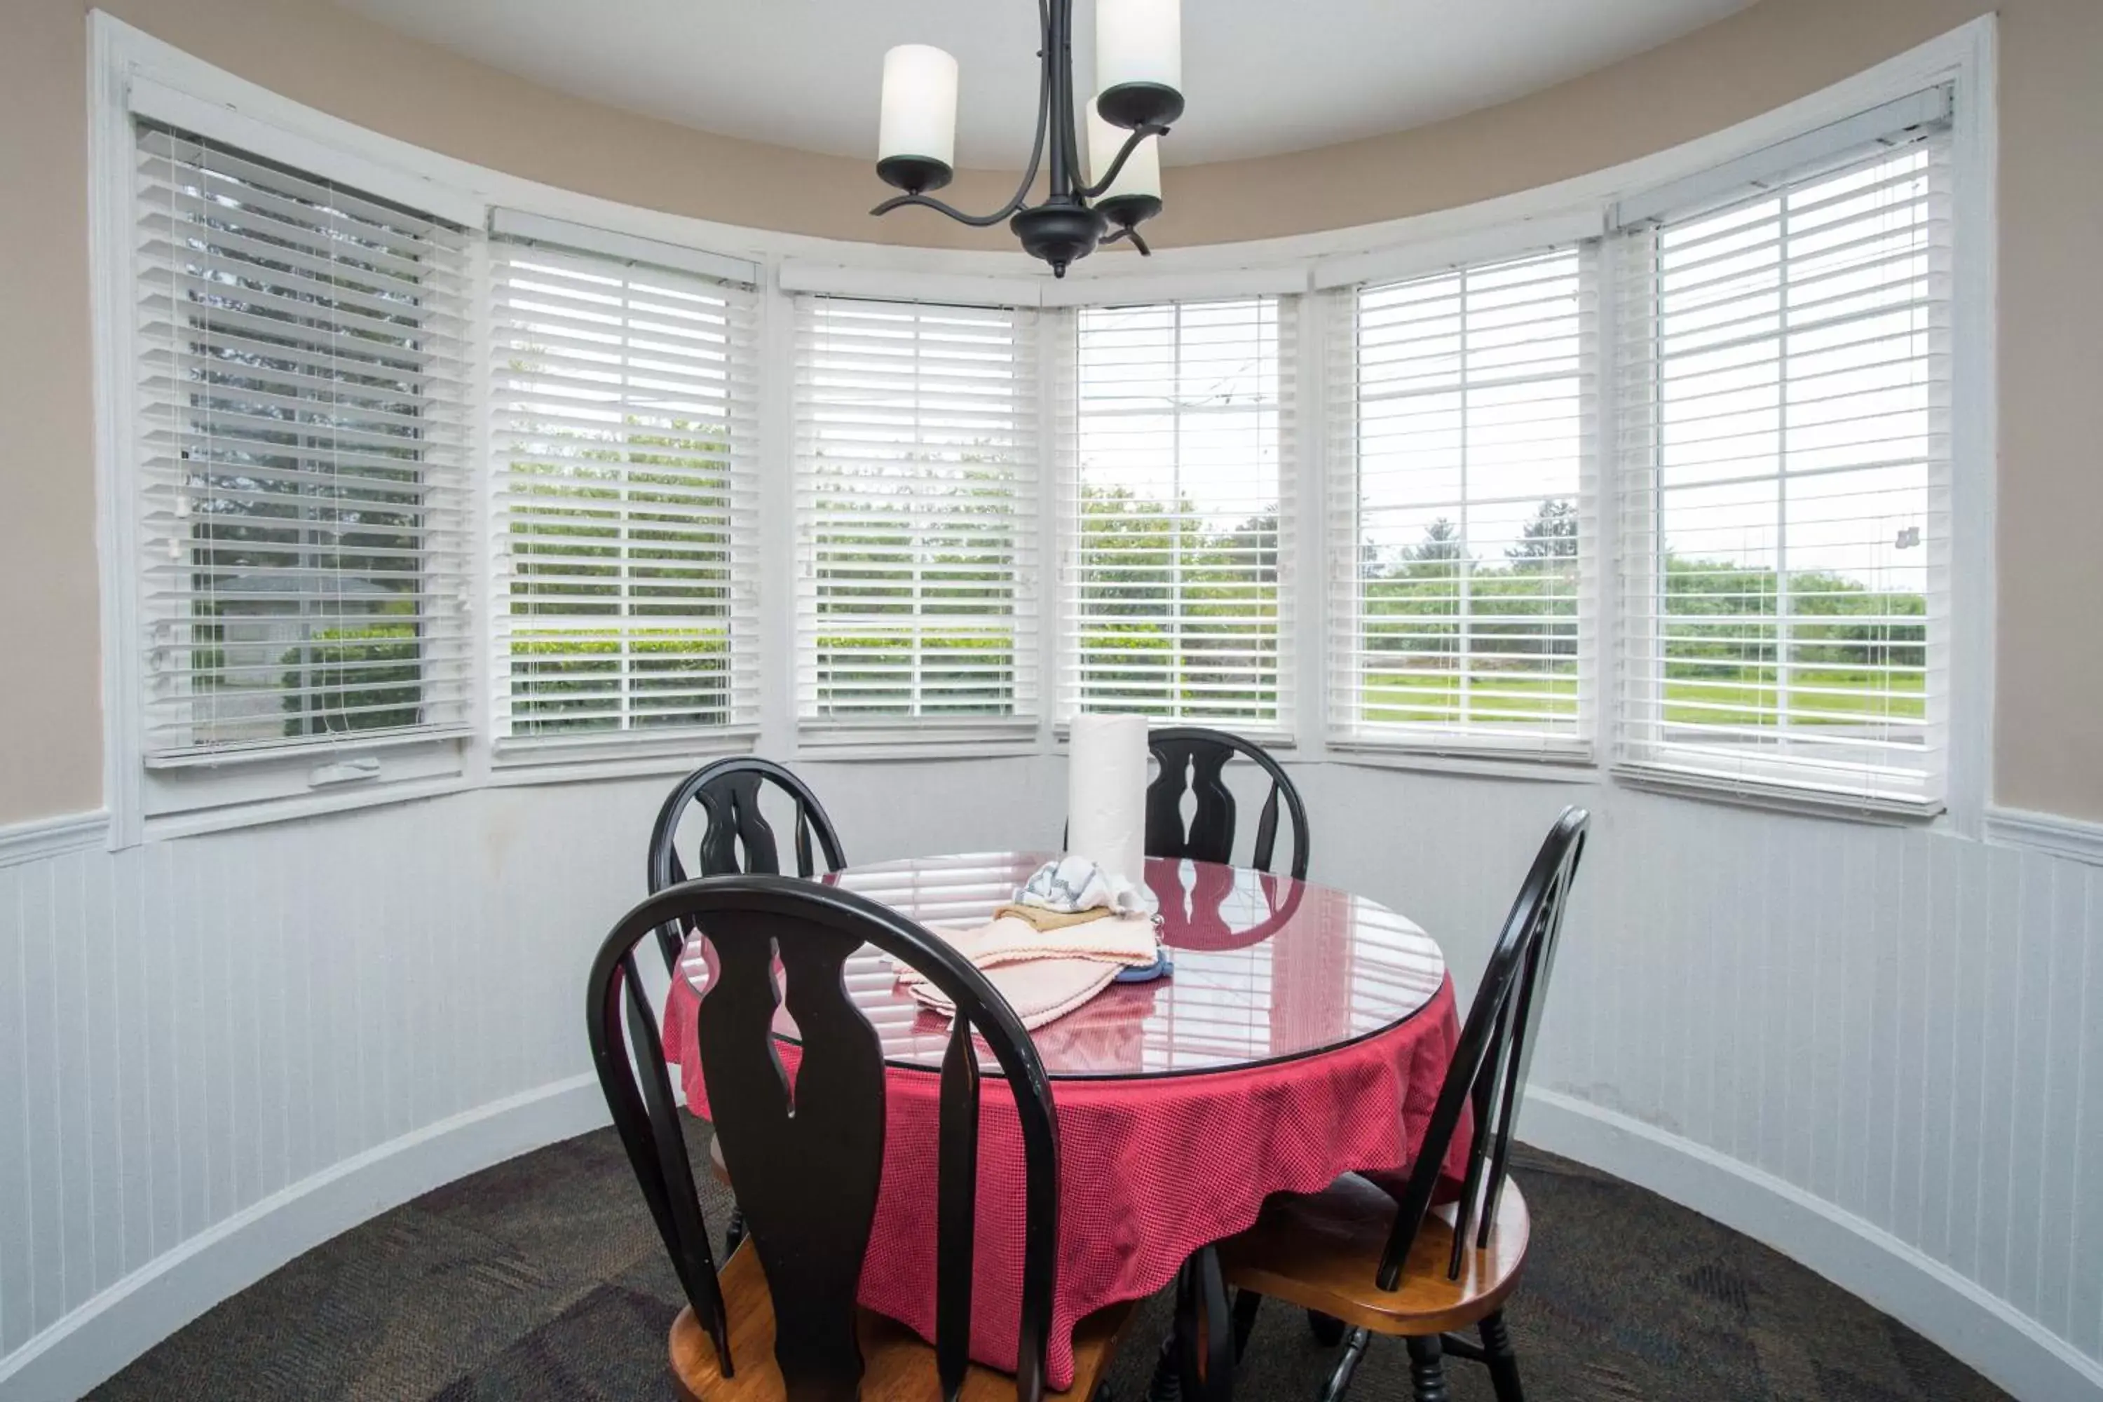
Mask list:
[[1333,742],[1588,750],[1594,261],[1331,294]]

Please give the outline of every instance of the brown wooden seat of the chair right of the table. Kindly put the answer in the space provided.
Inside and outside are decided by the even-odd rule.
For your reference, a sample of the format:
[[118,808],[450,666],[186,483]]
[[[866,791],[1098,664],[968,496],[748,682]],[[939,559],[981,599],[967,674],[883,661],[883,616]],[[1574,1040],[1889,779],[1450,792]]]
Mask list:
[[1253,1228],[1220,1242],[1220,1270],[1230,1286],[1377,1335],[1468,1328],[1504,1305],[1527,1263],[1531,1230],[1518,1183],[1506,1179],[1489,1244],[1462,1253],[1457,1280],[1447,1278],[1453,1207],[1438,1207],[1409,1249],[1401,1288],[1375,1284],[1394,1213],[1394,1198],[1354,1173],[1323,1192],[1281,1194],[1264,1204]]

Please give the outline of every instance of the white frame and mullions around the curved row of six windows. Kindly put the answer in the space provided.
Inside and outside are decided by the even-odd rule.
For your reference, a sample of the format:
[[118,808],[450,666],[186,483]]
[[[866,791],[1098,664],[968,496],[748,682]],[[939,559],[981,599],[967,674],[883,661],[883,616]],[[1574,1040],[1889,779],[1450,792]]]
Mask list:
[[[1150,261],[1127,254],[1104,254],[1077,265],[1064,282],[1052,282],[1043,269],[1020,252],[955,252],[934,248],[900,248],[883,244],[837,242],[805,235],[740,229],[662,210],[625,206],[612,200],[564,191],[522,177],[479,168],[404,141],[381,137],[355,124],[326,116],[263,86],[240,80],[181,48],[156,40],[124,21],[95,11],[90,27],[90,286],[95,307],[95,387],[97,387],[97,490],[101,549],[101,639],[103,639],[103,715],[105,715],[105,797],[111,809],[111,845],[132,845],[145,837],[168,837],[193,830],[303,818],[320,811],[391,803],[433,792],[454,792],[484,784],[547,784],[616,776],[658,776],[692,767],[694,750],[677,755],[644,752],[610,746],[608,752],[576,763],[492,765],[488,744],[490,717],[473,715],[473,734],[458,742],[425,774],[389,774],[381,782],[343,776],[341,784],[299,784],[292,795],[244,792],[240,784],[219,784],[225,774],[200,769],[212,801],[181,816],[145,822],[143,763],[137,725],[137,660],[126,643],[137,637],[132,624],[137,605],[130,597],[130,561],[137,559],[137,534],[122,511],[128,502],[128,469],[122,446],[132,425],[128,378],[130,359],[130,288],[128,288],[128,189],[130,189],[130,118],[128,99],[151,92],[164,103],[183,103],[187,120],[162,114],[179,126],[242,145],[261,156],[294,166],[315,168],[347,185],[370,189],[416,208],[446,214],[458,223],[479,225],[490,206],[505,206],[534,217],[559,219],[604,229],[612,235],[656,240],[686,250],[709,250],[749,259],[759,265],[765,282],[768,311],[763,315],[761,366],[761,723],[757,748],[797,759],[902,759],[915,750],[894,746],[808,748],[795,731],[793,675],[793,542],[787,441],[789,397],[787,366],[791,338],[782,307],[795,290],[829,290],[845,294],[927,296],[930,301],[972,301],[967,288],[980,288],[988,303],[1020,303],[1035,296],[1043,307],[1112,305],[1138,301],[1171,301],[1232,296],[1249,292],[1304,292],[1354,280],[1396,277],[1413,269],[1430,269],[1453,261],[1481,261],[1499,252],[1544,246],[1602,231],[1613,202],[1657,185],[1689,179],[1724,166],[1748,153],[1802,137],[1821,126],[1844,122],[1882,103],[1907,97],[1939,82],[1956,88],[1956,122],[1952,135],[1952,179],[1956,187],[1956,288],[1952,324],[1954,364],[1954,427],[1952,444],[1952,574],[1958,580],[1952,607],[1952,738],[1949,738],[1949,809],[1935,826],[1968,837],[1981,832],[1981,820],[1992,780],[1992,702],[1994,702],[1994,452],[1996,452],[1996,19],[1968,21],[1935,40],[1897,55],[1876,67],[1846,78],[1830,88],[1788,103],[1737,126],[1712,132],[1680,147],[1659,151],[1621,166],[1560,181],[1556,185],[1487,200],[1474,206],[1386,221],[1356,229],[1335,229],[1312,235],[1264,240],[1251,244],[1218,244],[1159,250]],[[1302,530],[1291,570],[1302,584],[1325,578],[1325,521],[1321,481],[1323,465],[1323,338],[1321,298],[1306,298],[1304,332],[1295,385],[1302,401],[1316,406],[1300,414],[1298,429],[1298,507]],[[1049,319],[1049,317],[1047,317]],[[1605,355],[1613,353],[1611,317],[1602,317]],[[1611,370],[1611,359],[1609,366]],[[1602,444],[1611,444],[1611,412],[1598,414]],[[1047,465],[1052,444],[1045,444]],[[486,460],[486,444],[477,450]],[[1054,473],[1041,473],[1045,511],[1039,525],[1058,528],[1052,511]],[[1609,483],[1611,488],[1611,483]],[[486,502],[475,511],[486,519]],[[1617,542],[1613,515],[1598,515],[1598,574],[1613,574]],[[477,532],[477,538],[482,532]],[[1043,559],[1056,559],[1056,536],[1045,536]],[[488,580],[486,559],[475,563],[477,578]],[[1281,574],[1287,561],[1281,561]],[[1049,589],[1049,580],[1047,580]],[[1356,752],[1323,742],[1327,717],[1323,675],[1327,589],[1302,586],[1295,597],[1293,628],[1293,723],[1298,727],[1298,759],[1352,765],[1398,765],[1459,774],[1518,776],[1529,780],[1598,782],[1600,769],[1581,765],[1541,765],[1527,761]],[[1602,582],[1598,599],[1598,652],[1615,650],[1615,601]],[[488,601],[477,622],[477,652],[486,658]],[[1058,675],[1058,628],[1039,628],[1043,666],[1039,677]],[[477,685],[488,694],[488,679]],[[1049,713],[1049,708],[1045,708]],[[1596,708],[1605,713],[1605,708]],[[1598,738],[1594,738],[1596,742]],[[921,752],[942,757],[988,752],[1056,752],[1058,740],[1049,721],[1035,738],[940,742]],[[385,759],[385,757],[383,757]],[[301,776],[311,778],[311,776]],[[1794,805],[1794,803],[1792,803]],[[1806,805],[1819,807],[1819,805]],[[1832,809],[1821,809],[1832,811]],[[1880,818],[1888,820],[1888,818]]]

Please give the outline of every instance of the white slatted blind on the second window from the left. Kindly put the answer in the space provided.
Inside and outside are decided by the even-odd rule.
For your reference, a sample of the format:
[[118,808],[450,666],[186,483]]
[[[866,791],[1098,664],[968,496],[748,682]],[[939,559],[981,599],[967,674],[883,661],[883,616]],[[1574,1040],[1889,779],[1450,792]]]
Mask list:
[[498,734],[755,725],[755,292],[517,242],[490,269]]

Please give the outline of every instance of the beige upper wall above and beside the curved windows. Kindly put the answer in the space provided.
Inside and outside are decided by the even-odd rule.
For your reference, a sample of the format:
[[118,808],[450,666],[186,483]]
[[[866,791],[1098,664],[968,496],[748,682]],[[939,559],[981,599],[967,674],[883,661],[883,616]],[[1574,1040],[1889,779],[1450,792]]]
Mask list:
[[[374,130],[726,223],[1007,246],[932,214],[871,221],[866,162],[707,137],[551,95],[324,0],[111,0],[122,19]],[[1676,145],[1855,74],[1979,0],[1762,0],[1535,97],[1310,156],[1169,170],[1163,244],[1468,204]],[[2103,818],[2103,0],[2002,6],[2000,662],[1996,801]],[[0,32],[0,656],[38,658],[0,717],[0,822],[99,803],[95,492],[80,0],[8,0]],[[288,59],[288,55],[301,55]],[[1197,118],[1192,118],[1197,120]],[[1001,179],[965,172],[959,200]],[[50,223],[50,210],[59,210]],[[59,233],[55,233],[59,229]],[[21,328],[44,334],[23,336]]]

